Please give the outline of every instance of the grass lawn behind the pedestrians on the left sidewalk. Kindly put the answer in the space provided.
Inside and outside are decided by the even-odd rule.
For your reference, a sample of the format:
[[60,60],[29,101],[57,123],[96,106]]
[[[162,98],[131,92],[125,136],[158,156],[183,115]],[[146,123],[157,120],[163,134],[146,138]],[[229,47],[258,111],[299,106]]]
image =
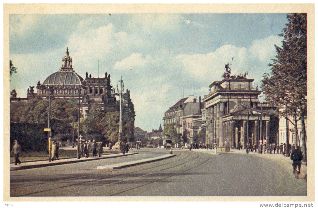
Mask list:
[[[114,153],[116,151],[109,151],[104,150],[103,154],[107,153]],[[59,158],[71,158],[76,157],[76,149],[74,150],[59,150]],[[19,155],[19,159],[21,162],[30,161],[30,160],[45,160],[49,159],[49,155],[46,153],[46,151],[40,151],[40,152],[21,152]],[[10,154],[10,163],[14,162],[14,155]]]

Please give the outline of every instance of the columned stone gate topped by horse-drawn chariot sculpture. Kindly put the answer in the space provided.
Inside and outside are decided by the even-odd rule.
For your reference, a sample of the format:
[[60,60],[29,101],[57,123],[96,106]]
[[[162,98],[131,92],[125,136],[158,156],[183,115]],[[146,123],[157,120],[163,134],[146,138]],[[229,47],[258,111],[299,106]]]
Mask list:
[[203,98],[206,110],[206,143],[238,148],[246,144],[258,145],[259,141],[277,143],[277,108],[260,103],[258,88],[253,88],[254,79],[225,71],[222,81],[209,87]]

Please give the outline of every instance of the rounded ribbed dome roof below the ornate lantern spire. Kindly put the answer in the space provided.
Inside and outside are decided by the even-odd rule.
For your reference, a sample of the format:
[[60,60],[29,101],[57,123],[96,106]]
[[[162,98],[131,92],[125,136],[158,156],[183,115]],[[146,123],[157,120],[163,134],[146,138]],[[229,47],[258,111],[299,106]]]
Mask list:
[[57,71],[48,76],[44,85],[82,85],[84,79],[74,71]]

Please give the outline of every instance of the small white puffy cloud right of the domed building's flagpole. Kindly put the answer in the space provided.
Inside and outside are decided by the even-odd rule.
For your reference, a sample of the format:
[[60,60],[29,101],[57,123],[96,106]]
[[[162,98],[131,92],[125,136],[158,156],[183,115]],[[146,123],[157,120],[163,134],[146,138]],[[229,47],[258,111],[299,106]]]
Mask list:
[[151,60],[150,55],[142,57],[142,53],[133,53],[125,59],[116,62],[114,69],[129,70],[129,69],[138,69],[139,67],[144,67]]

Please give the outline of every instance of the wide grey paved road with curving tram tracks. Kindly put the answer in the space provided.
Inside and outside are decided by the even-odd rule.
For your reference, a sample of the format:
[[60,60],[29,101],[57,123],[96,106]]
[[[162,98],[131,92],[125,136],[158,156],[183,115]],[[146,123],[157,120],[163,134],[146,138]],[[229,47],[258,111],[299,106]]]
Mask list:
[[176,157],[117,170],[97,166],[152,158],[141,149],[122,158],[10,172],[10,196],[273,196],[306,195],[286,163],[253,155],[180,152]]

